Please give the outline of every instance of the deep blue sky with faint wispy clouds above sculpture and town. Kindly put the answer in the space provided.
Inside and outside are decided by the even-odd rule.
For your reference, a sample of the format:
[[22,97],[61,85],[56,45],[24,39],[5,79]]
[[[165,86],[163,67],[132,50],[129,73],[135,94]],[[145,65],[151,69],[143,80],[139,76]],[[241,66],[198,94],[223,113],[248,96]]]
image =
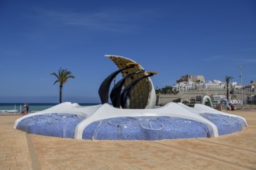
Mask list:
[[63,100],[99,102],[98,89],[126,56],[157,88],[182,75],[256,81],[256,2],[0,1],[0,102],[58,102],[50,73],[71,70]]

